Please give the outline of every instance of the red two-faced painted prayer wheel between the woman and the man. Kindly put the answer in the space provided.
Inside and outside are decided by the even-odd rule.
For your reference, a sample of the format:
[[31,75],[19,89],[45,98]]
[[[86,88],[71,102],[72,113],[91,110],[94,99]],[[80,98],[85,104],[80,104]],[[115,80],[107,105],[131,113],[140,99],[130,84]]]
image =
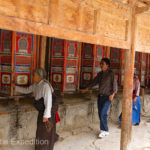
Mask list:
[[79,43],[52,39],[51,82],[55,90],[76,91]]

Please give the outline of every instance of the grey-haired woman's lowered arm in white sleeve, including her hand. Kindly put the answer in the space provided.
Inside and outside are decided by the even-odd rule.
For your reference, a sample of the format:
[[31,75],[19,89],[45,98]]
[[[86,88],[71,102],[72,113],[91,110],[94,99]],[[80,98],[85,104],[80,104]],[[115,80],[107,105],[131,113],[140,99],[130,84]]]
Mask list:
[[44,115],[43,122],[48,121],[48,118],[51,118],[51,109],[52,109],[52,91],[48,84],[45,84],[43,87],[43,98],[44,98]]

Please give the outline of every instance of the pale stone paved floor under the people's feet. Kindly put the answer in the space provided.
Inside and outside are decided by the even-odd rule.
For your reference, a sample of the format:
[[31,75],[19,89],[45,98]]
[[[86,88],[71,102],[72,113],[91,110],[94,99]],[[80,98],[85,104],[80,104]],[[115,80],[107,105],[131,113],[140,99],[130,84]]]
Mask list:
[[[120,128],[118,124],[110,123],[110,135],[98,139],[99,124],[78,128],[72,131],[61,131],[62,140],[55,144],[54,150],[119,150]],[[150,150],[150,117],[142,117],[139,126],[132,128],[131,150]],[[33,145],[0,146],[0,150],[34,150]]]

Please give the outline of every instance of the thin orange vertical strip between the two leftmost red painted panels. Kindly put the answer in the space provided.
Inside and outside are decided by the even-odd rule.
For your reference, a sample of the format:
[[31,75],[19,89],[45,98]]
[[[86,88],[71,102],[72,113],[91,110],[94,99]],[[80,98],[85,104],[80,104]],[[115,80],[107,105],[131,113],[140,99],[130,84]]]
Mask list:
[[15,86],[15,47],[16,47],[16,32],[12,31],[12,57],[11,57],[11,93],[10,95],[13,96],[14,94],[14,86]]

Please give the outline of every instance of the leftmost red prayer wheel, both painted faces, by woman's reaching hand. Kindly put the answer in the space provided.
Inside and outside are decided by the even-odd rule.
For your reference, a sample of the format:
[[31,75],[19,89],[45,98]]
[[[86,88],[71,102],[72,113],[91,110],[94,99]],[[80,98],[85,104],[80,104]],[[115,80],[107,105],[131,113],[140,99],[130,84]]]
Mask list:
[[[34,69],[34,36],[16,32],[13,55],[12,31],[1,30],[0,35],[0,88],[1,93],[10,94],[12,80],[18,86],[29,86],[31,83],[32,70]],[[14,63],[12,63],[12,59],[14,59]]]

